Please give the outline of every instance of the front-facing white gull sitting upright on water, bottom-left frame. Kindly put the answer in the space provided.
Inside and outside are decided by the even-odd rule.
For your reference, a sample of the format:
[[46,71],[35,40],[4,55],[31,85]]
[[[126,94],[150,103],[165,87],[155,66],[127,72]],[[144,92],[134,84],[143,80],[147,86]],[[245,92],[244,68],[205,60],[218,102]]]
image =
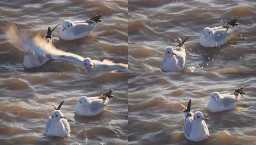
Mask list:
[[54,111],[52,112],[51,116],[49,117],[45,125],[46,135],[59,136],[62,138],[70,136],[70,126],[67,122],[67,119],[63,116],[63,114],[60,111],[60,107],[63,103],[64,101],[62,101],[58,107],[55,104],[53,104]]

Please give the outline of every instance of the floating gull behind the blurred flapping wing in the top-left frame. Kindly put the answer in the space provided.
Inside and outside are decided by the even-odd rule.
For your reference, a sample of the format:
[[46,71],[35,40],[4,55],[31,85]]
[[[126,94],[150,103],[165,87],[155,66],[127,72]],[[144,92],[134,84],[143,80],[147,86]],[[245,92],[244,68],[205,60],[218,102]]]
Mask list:
[[65,20],[59,30],[59,37],[65,41],[84,38],[99,23],[100,15],[90,18],[86,21],[70,21]]

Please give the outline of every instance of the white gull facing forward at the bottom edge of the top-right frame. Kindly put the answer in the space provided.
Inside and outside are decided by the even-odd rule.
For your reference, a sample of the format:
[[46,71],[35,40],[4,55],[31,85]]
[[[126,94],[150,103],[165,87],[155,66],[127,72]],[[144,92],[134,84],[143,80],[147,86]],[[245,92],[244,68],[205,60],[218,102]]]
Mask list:
[[183,70],[186,62],[186,50],[183,44],[188,39],[189,37],[181,41],[181,39],[178,38],[176,49],[173,49],[172,46],[165,48],[165,57],[161,64],[161,70],[163,72],[178,73]]

